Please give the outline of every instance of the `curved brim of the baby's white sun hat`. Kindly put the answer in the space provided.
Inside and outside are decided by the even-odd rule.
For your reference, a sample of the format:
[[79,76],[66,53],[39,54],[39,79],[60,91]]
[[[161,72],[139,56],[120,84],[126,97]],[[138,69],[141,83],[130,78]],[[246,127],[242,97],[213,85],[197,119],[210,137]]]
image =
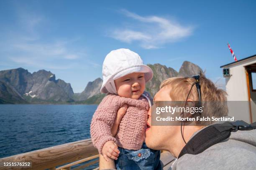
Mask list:
[[109,83],[110,81],[116,80],[120,77],[123,77],[125,75],[131,74],[133,72],[144,72],[145,82],[148,82],[153,77],[153,71],[150,67],[147,65],[134,65],[128,68],[125,68],[115,74],[113,74],[111,77],[109,77],[106,82],[102,82],[102,86],[100,88],[100,92],[107,93],[108,90],[106,89],[105,85]]

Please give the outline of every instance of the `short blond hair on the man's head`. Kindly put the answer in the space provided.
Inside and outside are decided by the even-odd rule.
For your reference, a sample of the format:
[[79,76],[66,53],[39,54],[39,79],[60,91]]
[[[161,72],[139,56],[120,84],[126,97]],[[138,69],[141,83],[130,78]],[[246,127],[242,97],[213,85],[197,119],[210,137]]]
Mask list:
[[[172,77],[164,80],[160,89],[169,88],[169,95],[173,101],[185,101],[191,86],[196,82],[193,77]],[[205,116],[209,117],[223,117],[228,115],[227,93],[224,90],[218,89],[215,84],[207,79],[205,75],[200,73],[201,85],[201,100],[207,102],[207,111],[203,112]],[[198,101],[197,88],[194,85],[189,99]]]

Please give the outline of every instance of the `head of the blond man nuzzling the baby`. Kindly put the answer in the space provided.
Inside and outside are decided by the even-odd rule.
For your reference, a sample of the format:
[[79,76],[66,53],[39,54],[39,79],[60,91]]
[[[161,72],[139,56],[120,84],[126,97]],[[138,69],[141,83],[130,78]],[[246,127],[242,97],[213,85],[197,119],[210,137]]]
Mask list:
[[[185,101],[189,94],[195,78],[192,77],[172,77],[164,80],[160,85],[159,92],[156,93],[154,101]],[[218,89],[214,83],[204,75],[200,75],[202,101],[209,102],[207,112],[204,116],[222,117],[228,115],[226,104],[226,92]],[[194,85],[187,101],[198,101],[197,88]],[[215,105],[214,102],[218,102]],[[210,103],[213,103],[211,105]],[[151,125],[151,110],[148,112],[148,124]],[[182,131],[186,141],[203,126],[183,126]],[[151,126],[146,131],[146,144],[149,148],[157,150],[169,150],[174,156],[178,156],[185,143],[182,139],[181,126]]]

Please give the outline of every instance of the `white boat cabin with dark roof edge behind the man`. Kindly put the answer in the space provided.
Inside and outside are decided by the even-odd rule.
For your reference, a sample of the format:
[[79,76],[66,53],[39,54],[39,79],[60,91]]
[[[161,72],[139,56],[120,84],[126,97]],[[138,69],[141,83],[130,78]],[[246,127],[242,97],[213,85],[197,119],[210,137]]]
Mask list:
[[256,55],[220,66],[228,93],[229,116],[256,121]]

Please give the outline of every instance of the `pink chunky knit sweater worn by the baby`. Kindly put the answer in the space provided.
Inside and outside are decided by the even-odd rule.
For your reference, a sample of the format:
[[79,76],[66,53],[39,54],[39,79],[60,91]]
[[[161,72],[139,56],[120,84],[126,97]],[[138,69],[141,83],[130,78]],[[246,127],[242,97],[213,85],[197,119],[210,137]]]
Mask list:
[[[116,113],[123,104],[127,104],[128,107],[114,138],[111,128]],[[141,149],[145,140],[148,108],[148,100],[142,96],[138,100],[114,94],[105,96],[92,117],[90,128],[92,143],[99,153],[102,154],[103,145],[110,140],[113,140],[121,148]]]

